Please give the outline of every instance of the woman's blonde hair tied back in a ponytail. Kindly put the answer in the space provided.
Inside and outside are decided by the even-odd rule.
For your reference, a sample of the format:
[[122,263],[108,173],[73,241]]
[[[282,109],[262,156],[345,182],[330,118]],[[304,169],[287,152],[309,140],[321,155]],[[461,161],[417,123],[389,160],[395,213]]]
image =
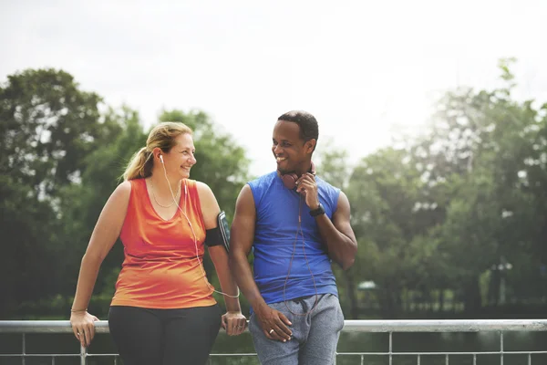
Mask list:
[[185,133],[192,134],[190,127],[174,121],[162,122],[150,130],[146,147],[141,148],[131,157],[128,167],[123,172],[123,180],[149,177],[154,166],[154,159],[151,158],[152,151],[158,147],[165,153],[169,152],[176,143],[175,139]]

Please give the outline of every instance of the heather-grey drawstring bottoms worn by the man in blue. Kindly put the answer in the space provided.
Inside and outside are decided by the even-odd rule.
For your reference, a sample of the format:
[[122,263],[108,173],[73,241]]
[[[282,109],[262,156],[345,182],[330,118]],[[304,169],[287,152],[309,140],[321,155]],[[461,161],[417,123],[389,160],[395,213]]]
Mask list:
[[[282,312],[293,326],[293,337],[286,342],[266,338],[258,324],[256,315],[249,321],[249,330],[253,335],[254,349],[263,365],[331,365],[335,363],[336,345],[340,330],[344,327],[344,314],[335,295],[317,296],[317,306],[306,316],[294,313],[306,313],[313,308],[315,296],[302,297],[285,302],[270,304]],[[291,311],[287,310],[287,307]]]

